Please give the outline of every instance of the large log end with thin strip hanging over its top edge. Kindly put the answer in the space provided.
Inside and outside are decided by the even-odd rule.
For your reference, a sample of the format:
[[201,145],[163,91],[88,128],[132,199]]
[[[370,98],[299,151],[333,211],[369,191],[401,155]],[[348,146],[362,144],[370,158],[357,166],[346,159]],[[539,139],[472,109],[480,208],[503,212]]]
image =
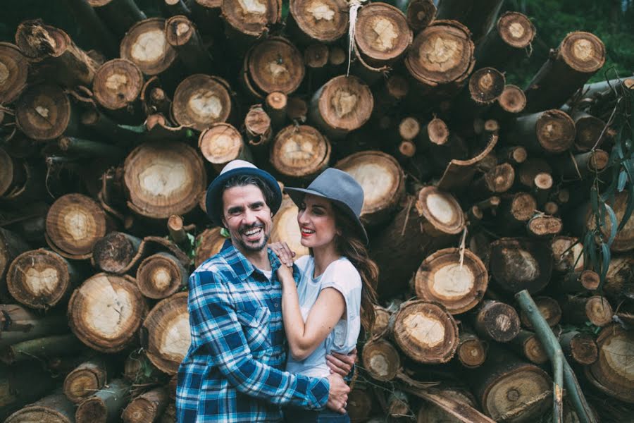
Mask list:
[[430,255],[416,272],[414,287],[421,300],[440,302],[451,314],[464,313],[482,300],[489,275],[482,260],[458,248],[445,248]]

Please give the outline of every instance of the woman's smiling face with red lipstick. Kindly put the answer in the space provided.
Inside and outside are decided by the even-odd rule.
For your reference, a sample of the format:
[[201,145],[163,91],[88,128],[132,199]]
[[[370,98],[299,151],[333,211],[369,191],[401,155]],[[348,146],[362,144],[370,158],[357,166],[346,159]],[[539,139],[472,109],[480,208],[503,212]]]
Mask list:
[[297,223],[304,247],[323,247],[335,240],[335,210],[325,198],[307,194],[302,204],[299,204]]

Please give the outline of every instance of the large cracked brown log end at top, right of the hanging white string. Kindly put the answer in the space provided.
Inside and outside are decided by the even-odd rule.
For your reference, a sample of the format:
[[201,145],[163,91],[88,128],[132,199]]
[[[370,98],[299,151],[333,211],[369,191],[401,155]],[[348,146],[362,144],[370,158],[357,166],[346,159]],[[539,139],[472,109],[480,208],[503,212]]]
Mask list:
[[414,37],[405,59],[409,73],[428,87],[464,82],[473,70],[471,32],[455,20],[435,20]]

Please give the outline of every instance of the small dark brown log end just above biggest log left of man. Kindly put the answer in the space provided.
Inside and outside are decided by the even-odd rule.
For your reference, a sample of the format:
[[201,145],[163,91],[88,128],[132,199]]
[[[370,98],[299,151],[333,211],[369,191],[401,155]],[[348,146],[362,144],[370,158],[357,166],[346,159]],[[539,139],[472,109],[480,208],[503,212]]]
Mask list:
[[108,233],[94,243],[91,262],[101,271],[121,274],[132,262],[140,244],[139,238],[127,233]]

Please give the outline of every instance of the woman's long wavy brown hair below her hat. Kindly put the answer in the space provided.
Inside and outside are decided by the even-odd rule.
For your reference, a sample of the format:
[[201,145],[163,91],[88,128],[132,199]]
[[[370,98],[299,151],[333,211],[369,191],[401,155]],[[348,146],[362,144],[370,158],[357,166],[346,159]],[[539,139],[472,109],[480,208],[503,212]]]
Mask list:
[[376,284],[378,283],[378,266],[368,255],[366,244],[356,230],[356,224],[335,204],[335,221],[341,235],[335,237],[335,247],[340,255],[346,257],[361,275],[361,325],[366,332],[374,324],[374,305],[376,304]]

